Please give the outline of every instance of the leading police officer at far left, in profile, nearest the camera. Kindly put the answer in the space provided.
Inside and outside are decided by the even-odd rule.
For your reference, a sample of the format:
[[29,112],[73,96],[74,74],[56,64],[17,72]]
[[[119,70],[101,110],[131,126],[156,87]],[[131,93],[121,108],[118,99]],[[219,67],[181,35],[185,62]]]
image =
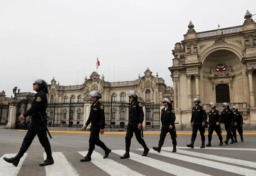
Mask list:
[[37,91],[37,93],[35,94],[32,100],[31,108],[28,111],[26,111],[23,115],[20,115],[18,117],[19,120],[24,120],[25,117],[31,115],[31,122],[28,128],[27,134],[23,139],[22,146],[20,147],[15,157],[3,158],[5,161],[12,163],[15,166],[18,165],[20,158],[23,157],[24,153],[27,151],[27,149],[31,145],[35,135],[38,136],[39,142],[44,147],[44,150],[47,155],[46,160],[44,160],[44,162],[40,163],[39,165],[45,166],[45,165],[54,163],[54,160],[52,157],[51,145],[47,138],[47,132],[38,114],[38,112],[40,112],[40,114],[44,119],[44,123],[47,124],[47,117],[46,117],[46,108],[48,105],[47,96],[46,96],[46,94],[48,93],[47,83],[43,79],[37,79],[33,83],[33,90]]

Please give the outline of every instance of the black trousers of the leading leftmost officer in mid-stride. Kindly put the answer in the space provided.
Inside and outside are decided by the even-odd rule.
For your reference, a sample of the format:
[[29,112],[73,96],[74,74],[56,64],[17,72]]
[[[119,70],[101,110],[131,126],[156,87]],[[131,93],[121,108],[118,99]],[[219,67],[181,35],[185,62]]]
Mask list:
[[[44,122],[45,122],[45,124],[47,124],[47,119],[44,120]],[[22,152],[24,154],[28,150],[35,135],[38,136],[39,142],[44,147],[47,158],[51,159],[52,158],[51,145],[47,138],[46,129],[43,126],[41,121],[31,121],[30,122],[28,132],[25,135],[25,138],[23,139],[22,146],[20,147],[20,152]]]

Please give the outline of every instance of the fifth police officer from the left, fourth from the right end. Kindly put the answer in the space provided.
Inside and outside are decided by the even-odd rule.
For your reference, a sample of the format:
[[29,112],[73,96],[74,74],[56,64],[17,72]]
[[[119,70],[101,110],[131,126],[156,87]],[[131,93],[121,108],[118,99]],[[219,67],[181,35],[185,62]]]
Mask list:
[[207,114],[205,112],[205,109],[200,106],[201,103],[199,98],[194,98],[193,102],[195,103],[195,107],[192,109],[192,115],[191,115],[191,121],[190,125],[193,128],[192,129],[192,137],[191,137],[191,143],[187,145],[187,147],[194,148],[194,142],[197,137],[197,131],[199,130],[202,140],[202,145],[200,148],[204,148],[204,141],[205,141],[205,122],[207,121]]

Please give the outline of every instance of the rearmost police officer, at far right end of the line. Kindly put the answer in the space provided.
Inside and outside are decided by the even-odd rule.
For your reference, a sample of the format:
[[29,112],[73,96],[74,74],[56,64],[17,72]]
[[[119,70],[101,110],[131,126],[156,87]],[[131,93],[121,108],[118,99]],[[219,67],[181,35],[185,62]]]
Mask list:
[[242,114],[238,111],[238,108],[236,106],[232,107],[232,110],[234,112],[234,116],[236,118],[236,123],[232,126],[232,133],[234,137],[234,142],[237,142],[237,131],[240,135],[241,142],[244,141],[243,139],[243,116]]

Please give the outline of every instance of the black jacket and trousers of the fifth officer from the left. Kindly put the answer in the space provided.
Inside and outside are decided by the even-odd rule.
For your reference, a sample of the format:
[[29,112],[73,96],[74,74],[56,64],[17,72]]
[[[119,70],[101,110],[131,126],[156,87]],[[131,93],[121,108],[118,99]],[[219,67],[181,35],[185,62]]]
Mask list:
[[205,141],[204,132],[205,127],[202,126],[202,123],[207,121],[207,114],[205,112],[205,109],[202,106],[198,106],[197,108],[194,107],[192,109],[192,115],[191,115],[191,121],[190,123],[193,123],[193,129],[192,129],[192,137],[191,141],[195,141],[197,137],[197,131],[199,130],[201,135],[202,142]]

